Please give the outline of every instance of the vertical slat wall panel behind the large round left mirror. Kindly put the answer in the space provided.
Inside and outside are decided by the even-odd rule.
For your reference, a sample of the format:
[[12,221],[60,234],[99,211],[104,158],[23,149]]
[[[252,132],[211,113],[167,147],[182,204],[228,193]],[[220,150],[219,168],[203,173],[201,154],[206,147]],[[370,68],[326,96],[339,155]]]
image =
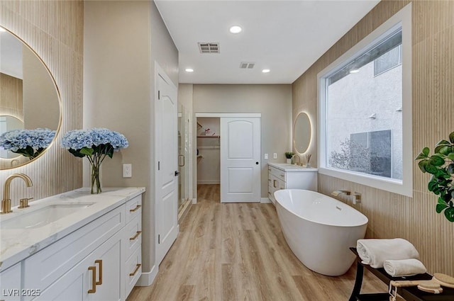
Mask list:
[[[57,140],[47,152],[25,166],[0,171],[0,192],[14,173],[31,177],[11,183],[11,200],[35,200],[82,186],[82,160],[60,147],[62,135],[82,127],[83,1],[0,1],[0,25],[21,37],[43,59],[54,76],[62,101],[62,123]],[[45,110],[45,108],[43,108]]]

